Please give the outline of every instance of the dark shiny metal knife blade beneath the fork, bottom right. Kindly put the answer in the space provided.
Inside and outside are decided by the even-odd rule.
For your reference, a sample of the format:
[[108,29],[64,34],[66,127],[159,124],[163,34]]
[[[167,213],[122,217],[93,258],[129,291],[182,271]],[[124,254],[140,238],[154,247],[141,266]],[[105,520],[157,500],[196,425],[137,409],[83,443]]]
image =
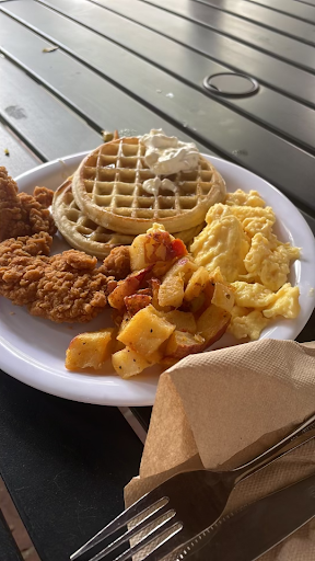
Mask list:
[[315,473],[219,519],[175,559],[255,561],[314,516]]

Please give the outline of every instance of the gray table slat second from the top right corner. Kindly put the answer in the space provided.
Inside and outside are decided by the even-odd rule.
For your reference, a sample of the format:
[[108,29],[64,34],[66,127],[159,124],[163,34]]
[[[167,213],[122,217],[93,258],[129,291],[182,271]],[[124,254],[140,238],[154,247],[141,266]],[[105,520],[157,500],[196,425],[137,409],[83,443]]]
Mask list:
[[255,24],[269,30],[275,30],[278,34],[294,37],[303,43],[314,44],[315,26],[312,23],[302,22],[293,19],[285,13],[270,11],[265,5],[247,2],[246,0],[194,0],[208,7],[222,10],[237,18],[248,20]]

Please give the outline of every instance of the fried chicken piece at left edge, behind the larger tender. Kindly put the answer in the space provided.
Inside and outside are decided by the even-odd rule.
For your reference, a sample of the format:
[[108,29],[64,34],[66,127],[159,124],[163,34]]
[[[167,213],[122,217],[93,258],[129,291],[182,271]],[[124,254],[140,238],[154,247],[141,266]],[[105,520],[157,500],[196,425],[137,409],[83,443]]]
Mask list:
[[48,210],[52,196],[46,187],[35,187],[33,195],[18,193],[15,181],[0,167],[0,242],[40,231],[52,236],[57,230]]

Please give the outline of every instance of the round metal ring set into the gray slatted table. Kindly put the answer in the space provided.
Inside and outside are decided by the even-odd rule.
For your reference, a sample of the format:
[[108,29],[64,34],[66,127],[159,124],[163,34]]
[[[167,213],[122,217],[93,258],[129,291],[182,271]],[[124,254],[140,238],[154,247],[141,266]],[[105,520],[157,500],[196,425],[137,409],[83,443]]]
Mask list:
[[203,88],[217,95],[225,98],[241,98],[257,92],[259,84],[250,76],[237,75],[234,72],[219,72],[207,76],[203,80]]

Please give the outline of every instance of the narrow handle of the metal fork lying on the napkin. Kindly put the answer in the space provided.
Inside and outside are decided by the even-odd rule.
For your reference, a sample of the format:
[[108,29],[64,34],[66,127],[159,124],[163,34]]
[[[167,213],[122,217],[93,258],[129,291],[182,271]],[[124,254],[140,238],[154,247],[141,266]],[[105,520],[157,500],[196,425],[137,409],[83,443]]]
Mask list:
[[273,461],[278,460],[285,454],[289,454],[289,451],[292,451],[295,448],[299,448],[299,446],[302,446],[302,444],[312,440],[312,438],[315,437],[315,428],[307,428],[311,427],[314,421],[315,415],[308,419],[308,421],[303,423],[303,425],[296,428],[293,433],[290,433],[288,436],[285,436],[285,438],[283,438],[280,443],[272,446],[272,448],[269,448],[267,451],[248,461],[244,466],[233,469],[232,472],[233,476],[235,476],[235,485],[240,483],[240,481],[243,481],[266,466],[269,466]]

